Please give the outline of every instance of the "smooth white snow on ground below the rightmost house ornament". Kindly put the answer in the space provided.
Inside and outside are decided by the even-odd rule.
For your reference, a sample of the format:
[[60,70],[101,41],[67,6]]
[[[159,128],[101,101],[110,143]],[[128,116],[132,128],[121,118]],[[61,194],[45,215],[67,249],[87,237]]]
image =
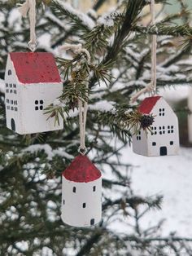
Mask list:
[[[135,166],[132,170],[134,193],[141,196],[164,196],[162,210],[151,210],[142,219],[142,227],[157,224],[166,218],[162,234],[177,232],[178,236],[192,236],[192,148],[181,148],[179,156],[142,157],[125,148],[124,163]],[[111,228],[127,227],[112,225]],[[124,230],[125,231],[125,230]]]

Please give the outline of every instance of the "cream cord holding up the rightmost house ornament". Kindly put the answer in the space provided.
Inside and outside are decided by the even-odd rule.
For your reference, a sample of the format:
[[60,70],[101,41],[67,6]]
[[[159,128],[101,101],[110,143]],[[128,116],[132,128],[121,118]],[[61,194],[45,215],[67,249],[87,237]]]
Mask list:
[[[155,0],[151,0],[151,26],[155,26]],[[152,45],[151,45],[151,83],[146,86],[146,88],[139,90],[133,97],[131,101],[134,102],[137,98],[146,92],[151,92],[155,95],[156,92],[156,65],[157,65],[157,36],[152,35]]]

